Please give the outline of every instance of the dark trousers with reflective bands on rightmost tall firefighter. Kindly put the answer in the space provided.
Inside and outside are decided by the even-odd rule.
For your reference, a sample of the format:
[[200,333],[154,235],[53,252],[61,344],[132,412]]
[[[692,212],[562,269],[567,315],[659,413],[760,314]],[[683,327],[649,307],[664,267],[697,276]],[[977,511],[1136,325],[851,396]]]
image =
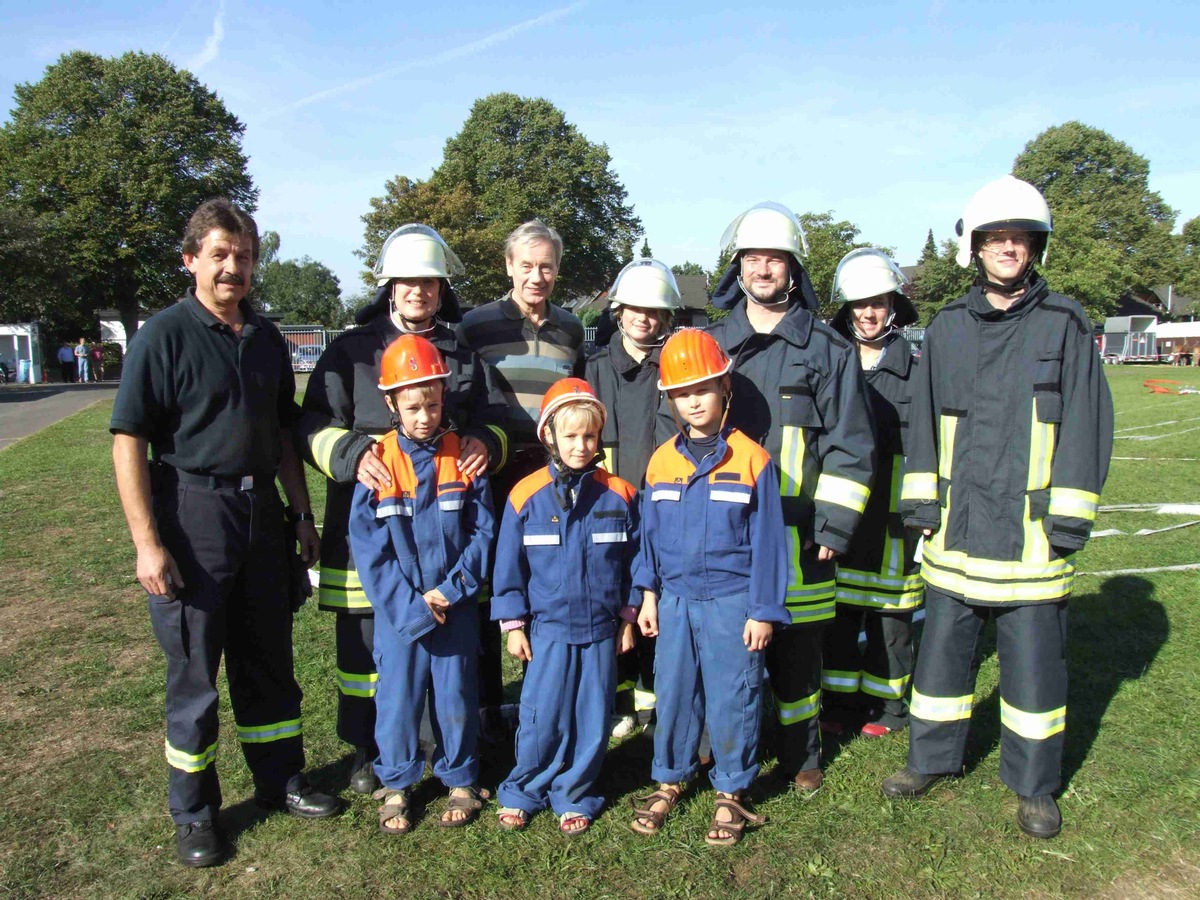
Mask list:
[[976,644],[988,619],[995,619],[1000,778],[1022,797],[1057,791],[1067,720],[1067,601],[968,606],[931,589],[925,610],[910,768],[930,775],[961,770],[979,672]]

